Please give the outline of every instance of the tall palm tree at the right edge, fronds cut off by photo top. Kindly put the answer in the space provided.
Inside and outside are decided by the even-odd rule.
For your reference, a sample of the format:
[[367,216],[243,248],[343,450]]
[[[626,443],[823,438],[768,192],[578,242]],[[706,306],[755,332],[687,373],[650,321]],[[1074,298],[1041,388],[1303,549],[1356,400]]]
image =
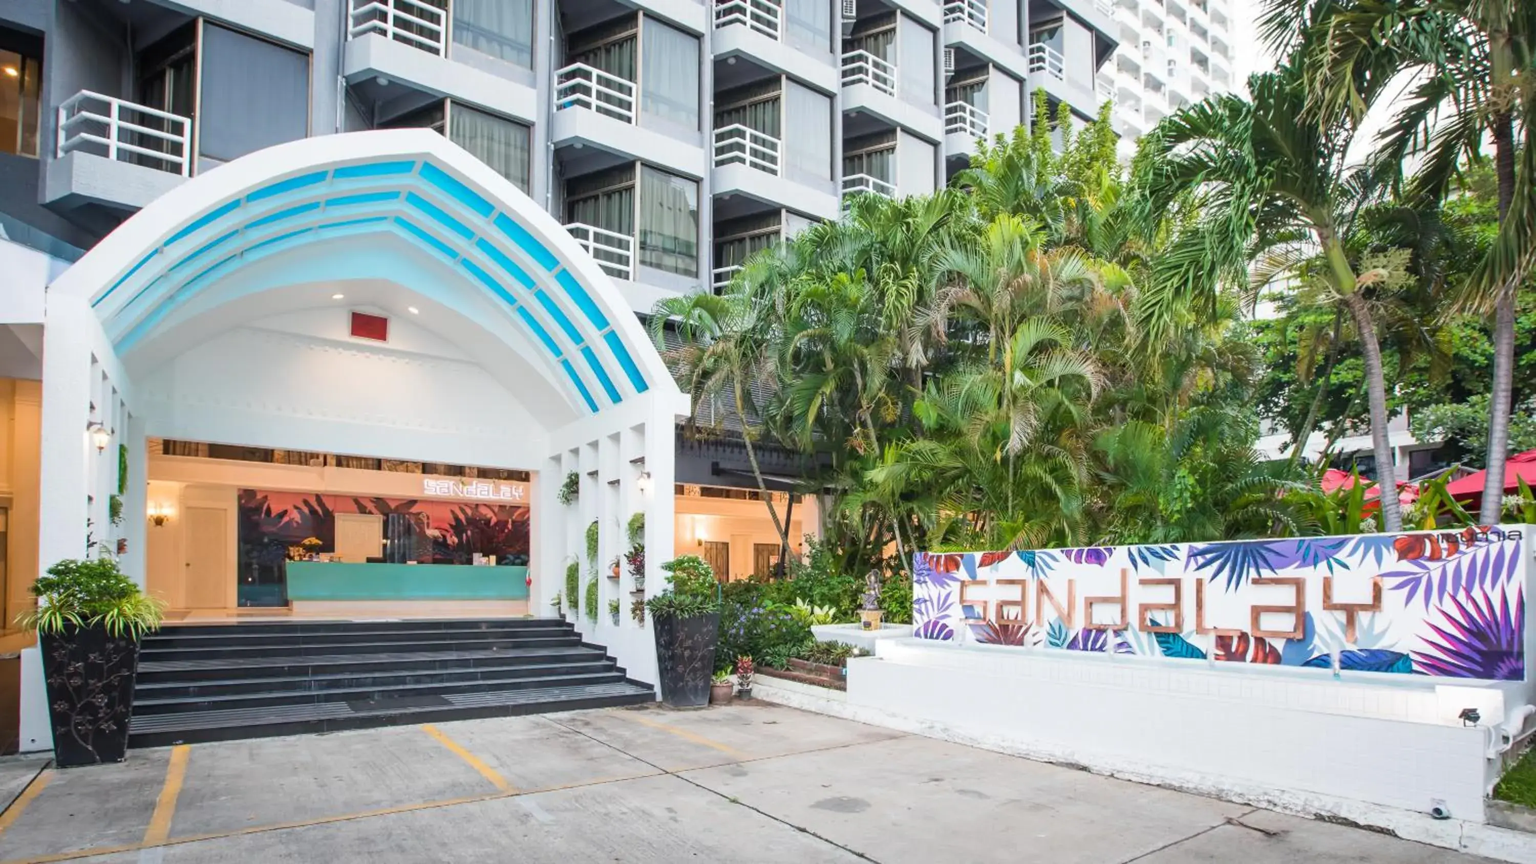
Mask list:
[[[1379,140],[1376,163],[1399,183],[1410,157],[1422,167],[1409,192],[1444,200],[1467,160],[1493,141],[1499,233],[1453,312],[1493,312],[1482,522],[1499,519],[1514,378],[1514,295],[1536,267],[1536,3],[1530,0],[1267,0],[1266,38],[1298,48],[1309,64],[1313,112],[1355,120],[1384,81],[1412,74],[1413,91]],[[1516,141],[1519,129],[1519,141]]]

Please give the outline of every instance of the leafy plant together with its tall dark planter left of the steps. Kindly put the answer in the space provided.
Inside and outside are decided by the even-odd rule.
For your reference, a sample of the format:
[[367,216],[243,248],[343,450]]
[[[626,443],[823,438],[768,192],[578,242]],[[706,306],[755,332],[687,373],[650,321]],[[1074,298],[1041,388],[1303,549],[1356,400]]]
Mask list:
[[160,628],[160,602],[103,556],[61,560],[32,583],[58,767],[120,763],[134,709],[138,640]]

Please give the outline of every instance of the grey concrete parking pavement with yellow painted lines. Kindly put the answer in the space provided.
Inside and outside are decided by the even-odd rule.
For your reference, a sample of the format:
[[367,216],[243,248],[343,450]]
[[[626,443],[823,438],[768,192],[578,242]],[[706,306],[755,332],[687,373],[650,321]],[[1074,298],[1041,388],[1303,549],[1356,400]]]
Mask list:
[[1482,861],[763,703],[45,766],[0,761],[0,864]]

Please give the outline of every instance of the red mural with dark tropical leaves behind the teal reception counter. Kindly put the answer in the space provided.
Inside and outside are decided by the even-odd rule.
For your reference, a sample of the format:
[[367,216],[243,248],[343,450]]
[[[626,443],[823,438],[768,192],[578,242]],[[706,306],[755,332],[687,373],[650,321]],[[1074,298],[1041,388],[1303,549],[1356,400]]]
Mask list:
[[310,537],[319,540],[310,551],[335,552],[336,513],[384,517],[384,536],[395,549],[387,560],[395,563],[467,565],[476,552],[495,556],[498,565],[528,563],[527,506],[240,490],[240,605],[287,603],[283,562]]

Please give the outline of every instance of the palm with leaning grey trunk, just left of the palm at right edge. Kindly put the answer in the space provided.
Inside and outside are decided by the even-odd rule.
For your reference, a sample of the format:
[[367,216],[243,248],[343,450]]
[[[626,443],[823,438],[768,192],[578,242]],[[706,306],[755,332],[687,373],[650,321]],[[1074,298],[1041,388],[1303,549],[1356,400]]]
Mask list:
[[[1152,184],[1146,213],[1161,213],[1180,195],[1198,190],[1204,213],[1164,250],[1143,289],[1138,325],[1155,348],[1172,315],[1189,302],[1213,307],[1221,284],[1246,285],[1258,253],[1306,236],[1326,267],[1321,279],[1339,298],[1359,336],[1370,407],[1376,480],[1396,488],[1387,440],[1387,393],[1369,287],[1378,273],[1358,273],[1346,250],[1346,229],[1367,184],[1346,167],[1349,117],[1307,118],[1303,69],[1281,66],[1249,78],[1252,101],[1207,97],[1164,118],[1149,147]],[[1382,496],[1385,529],[1398,531],[1396,496]]]

